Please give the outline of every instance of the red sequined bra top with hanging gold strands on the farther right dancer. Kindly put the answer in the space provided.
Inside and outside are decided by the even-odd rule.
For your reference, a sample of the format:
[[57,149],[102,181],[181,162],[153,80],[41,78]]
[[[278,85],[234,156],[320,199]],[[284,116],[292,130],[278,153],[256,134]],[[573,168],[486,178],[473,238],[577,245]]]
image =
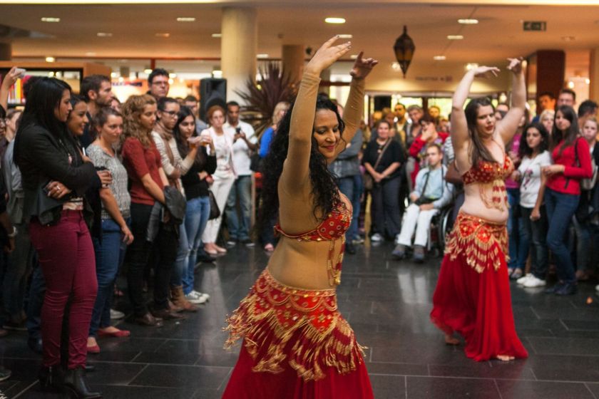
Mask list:
[[[478,161],[462,175],[464,185],[478,183],[481,199],[487,208],[507,209],[508,195],[506,192],[506,178],[513,172],[513,162],[508,155],[503,156],[503,165],[498,162]],[[491,198],[488,187],[491,186]]]

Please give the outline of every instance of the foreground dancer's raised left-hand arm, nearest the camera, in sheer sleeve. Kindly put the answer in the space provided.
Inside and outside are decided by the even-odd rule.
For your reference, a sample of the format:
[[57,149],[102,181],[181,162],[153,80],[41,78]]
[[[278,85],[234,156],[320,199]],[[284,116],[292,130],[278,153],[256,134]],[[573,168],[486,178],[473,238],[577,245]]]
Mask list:
[[299,83],[291,113],[289,150],[280,177],[280,184],[287,192],[304,192],[309,183],[309,159],[320,73],[347,53],[350,47],[349,42],[334,46],[337,39],[338,36],[330,38],[318,49]]

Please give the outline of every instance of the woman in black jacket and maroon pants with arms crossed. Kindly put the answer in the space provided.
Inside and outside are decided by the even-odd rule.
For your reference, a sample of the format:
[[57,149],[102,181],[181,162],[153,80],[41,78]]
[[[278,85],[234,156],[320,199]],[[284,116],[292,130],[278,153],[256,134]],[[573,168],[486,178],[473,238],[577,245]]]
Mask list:
[[[14,149],[24,187],[24,217],[46,280],[41,311],[43,387],[60,388],[76,398],[101,398],[85,379],[86,343],[98,283],[93,245],[83,214],[89,187],[110,182],[96,173],[68,133],[71,87],[40,78],[29,95]],[[68,314],[67,370],[61,370],[61,329]]]

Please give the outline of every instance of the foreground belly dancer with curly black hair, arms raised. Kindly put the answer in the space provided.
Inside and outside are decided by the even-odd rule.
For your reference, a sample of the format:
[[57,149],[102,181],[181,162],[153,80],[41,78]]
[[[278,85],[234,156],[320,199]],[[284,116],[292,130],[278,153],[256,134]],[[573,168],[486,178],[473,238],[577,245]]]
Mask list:
[[334,45],[337,38],[307,64],[265,159],[259,225],[269,228],[277,212],[282,238],[228,319],[227,346],[239,338],[243,345],[223,398],[373,398],[362,349],[337,310],[352,205],[327,165],[359,128],[364,78],[377,61],[358,56],[342,120],[317,96],[320,73],[349,51],[350,43]]

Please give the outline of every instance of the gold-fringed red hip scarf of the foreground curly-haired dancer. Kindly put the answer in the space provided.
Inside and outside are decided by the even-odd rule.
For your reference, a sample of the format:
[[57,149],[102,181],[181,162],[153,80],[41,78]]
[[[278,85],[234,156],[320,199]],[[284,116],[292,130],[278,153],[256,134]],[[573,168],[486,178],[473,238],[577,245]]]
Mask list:
[[244,338],[256,362],[252,371],[280,373],[288,361],[309,381],[324,378],[324,368],[347,374],[362,363],[363,347],[337,311],[334,289],[295,289],[275,281],[267,269],[227,323],[225,348]]

